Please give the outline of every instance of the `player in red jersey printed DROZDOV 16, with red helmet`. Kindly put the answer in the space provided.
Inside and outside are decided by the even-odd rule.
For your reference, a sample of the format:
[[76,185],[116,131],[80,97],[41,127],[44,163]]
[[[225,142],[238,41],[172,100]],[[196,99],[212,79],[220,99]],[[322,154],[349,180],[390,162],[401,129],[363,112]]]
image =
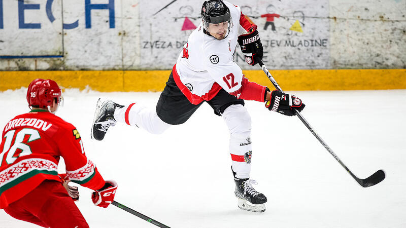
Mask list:
[[[52,80],[36,79],[28,86],[31,111],[5,126],[0,144],[0,209],[14,218],[44,227],[89,227],[73,198],[69,181],[95,190],[92,201],[107,207],[117,184],[105,181],[86,158],[78,130],[54,115],[63,101]],[[58,175],[62,157],[66,174]],[[72,197],[72,198],[71,198]]]

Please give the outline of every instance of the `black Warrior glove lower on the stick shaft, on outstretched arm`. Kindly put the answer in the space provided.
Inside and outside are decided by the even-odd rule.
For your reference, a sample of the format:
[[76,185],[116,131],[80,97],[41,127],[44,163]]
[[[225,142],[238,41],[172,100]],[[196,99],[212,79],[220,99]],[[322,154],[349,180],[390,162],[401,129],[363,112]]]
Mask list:
[[276,111],[286,116],[294,116],[296,115],[296,112],[293,109],[301,111],[306,105],[293,95],[291,98],[292,99],[289,99],[289,94],[287,93],[274,90],[270,95],[270,100],[265,102],[265,107],[271,111]]

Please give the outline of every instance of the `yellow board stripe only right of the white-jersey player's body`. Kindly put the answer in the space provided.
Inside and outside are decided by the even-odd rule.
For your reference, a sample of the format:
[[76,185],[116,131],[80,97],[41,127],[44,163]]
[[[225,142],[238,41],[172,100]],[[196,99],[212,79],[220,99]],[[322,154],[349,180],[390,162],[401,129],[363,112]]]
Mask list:
[[[273,87],[263,71],[243,72],[250,81]],[[270,73],[283,90],[406,89],[406,69],[272,70]]]

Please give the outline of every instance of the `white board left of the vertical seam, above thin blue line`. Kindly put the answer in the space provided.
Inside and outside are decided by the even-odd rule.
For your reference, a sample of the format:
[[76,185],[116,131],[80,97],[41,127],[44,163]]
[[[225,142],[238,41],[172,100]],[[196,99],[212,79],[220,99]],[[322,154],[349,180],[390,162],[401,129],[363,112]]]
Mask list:
[[52,13],[45,9],[45,1],[20,7],[16,0],[0,1],[0,55],[62,55],[61,2]]

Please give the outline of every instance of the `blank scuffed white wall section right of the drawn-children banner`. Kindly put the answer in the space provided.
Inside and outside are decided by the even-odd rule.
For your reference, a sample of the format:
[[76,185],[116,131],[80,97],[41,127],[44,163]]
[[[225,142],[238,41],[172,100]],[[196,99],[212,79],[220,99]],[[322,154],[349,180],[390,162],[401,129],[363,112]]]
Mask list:
[[331,68],[406,68],[406,1],[330,1]]

